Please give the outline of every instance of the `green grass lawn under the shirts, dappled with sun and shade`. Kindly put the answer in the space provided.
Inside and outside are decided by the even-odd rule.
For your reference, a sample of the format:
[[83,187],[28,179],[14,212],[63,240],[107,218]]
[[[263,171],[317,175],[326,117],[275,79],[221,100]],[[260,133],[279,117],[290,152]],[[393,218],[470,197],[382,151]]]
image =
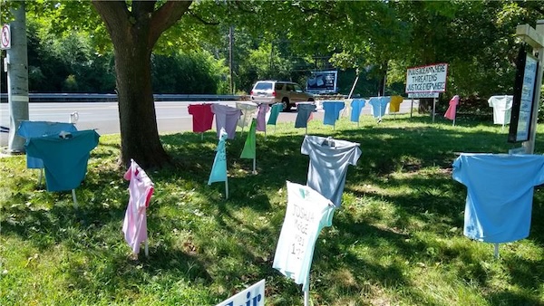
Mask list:
[[[0,159],[0,305],[215,305],[266,279],[267,305],[302,305],[299,285],[272,268],[286,180],[305,184],[305,129],[257,133],[257,175],[228,141],[229,198],[207,185],[217,145],[191,132],[161,136],[180,165],[148,170],[150,256],[131,256],[121,233],[128,182],[116,167],[120,138],[104,135],[87,177],[70,192],[37,185],[24,156]],[[239,130],[238,130],[239,131]],[[542,153],[543,132],[536,140]],[[529,237],[493,245],[462,234],[466,187],[452,179],[456,152],[506,153],[508,128],[486,121],[397,115],[360,127],[313,120],[308,134],[361,144],[342,207],[316,242],[314,305],[544,304],[544,192],[536,188]]]

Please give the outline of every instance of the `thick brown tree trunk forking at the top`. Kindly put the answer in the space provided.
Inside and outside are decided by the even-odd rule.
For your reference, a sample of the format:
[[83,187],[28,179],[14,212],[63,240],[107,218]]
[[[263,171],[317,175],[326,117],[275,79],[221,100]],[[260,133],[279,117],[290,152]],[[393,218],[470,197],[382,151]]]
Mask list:
[[92,1],[113,43],[121,156],[128,165],[133,158],[141,167],[164,167],[172,159],[160,143],[151,85],[151,51],[160,34],[189,9],[190,1],[167,1],[154,10],[156,1]]

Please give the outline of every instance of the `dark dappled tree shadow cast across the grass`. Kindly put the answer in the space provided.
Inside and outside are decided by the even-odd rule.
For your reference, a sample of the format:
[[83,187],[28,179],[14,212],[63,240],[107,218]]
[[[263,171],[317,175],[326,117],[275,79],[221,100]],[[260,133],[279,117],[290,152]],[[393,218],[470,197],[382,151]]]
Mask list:
[[[429,123],[428,118],[414,120]],[[459,268],[460,280],[475,280],[482,286],[489,286],[487,270],[481,258],[468,247],[452,248],[440,241],[423,243],[413,239],[411,233],[404,233],[403,229],[409,227],[410,218],[421,222],[425,227],[423,231],[433,229],[437,235],[443,234],[444,239],[459,235],[459,231],[452,233],[450,229],[462,225],[465,187],[454,182],[449,173],[432,176],[420,171],[426,167],[450,168],[456,152],[504,152],[509,146],[505,143],[505,136],[491,132],[445,129],[440,124],[411,128],[408,126],[409,121],[405,122],[406,128],[374,125],[362,129],[336,129],[329,133],[335,139],[360,143],[363,151],[357,166],[348,168],[345,194],[374,203],[391,203],[398,217],[392,223],[384,224],[380,216],[361,217],[350,211],[349,206],[337,213],[333,228],[325,229],[325,233],[317,240],[312,269],[313,277],[325,280],[312,282],[324,303],[335,301],[343,292],[360,295],[359,292],[366,290],[365,282],[378,283],[384,287],[403,287],[403,294],[409,292],[415,297],[414,300],[425,301],[424,293],[415,288],[415,282],[403,274],[405,261],[458,261],[464,265]],[[460,120],[460,124],[464,123]],[[475,126],[478,123],[466,124]],[[5,215],[6,220],[3,221],[3,233],[19,235],[41,250],[51,248],[53,244],[65,244],[70,250],[83,253],[92,261],[103,258],[107,270],[89,282],[81,275],[86,269],[84,264],[70,263],[72,267],[69,269],[73,269],[70,281],[77,288],[90,288],[91,292],[103,290],[114,294],[112,286],[102,287],[92,283],[96,280],[107,283],[113,279],[115,282],[126,282],[124,288],[131,288],[135,283],[145,282],[148,277],[146,273],[170,273],[170,276],[180,280],[205,285],[213,283],[224,288],[234,288],[240,282],[250,284],[266,278],[267,283],[271,284],[268,290],[276,295],[277,303],[298,303],[301,299],[299,287],[271,267],[287,199],[277,200],[282,196],[272,198],[269,195],[274,195],[281,188],[285,189],[286,180],[301,184],[306,182],[309,158],[300,153],[303,139],[304,135],[284,133],[268,135],[265,141],[261,134],[257,135],[257,175],[250,173],[250,159],[239,158],[245,137],[229,140],[227,150],[231,193],[229,199],[225,200],[221,195],[224,190],[222,183],[217,183],[217,186],[206,185],[217,146],[215,132],[205,133],[203,140],[199,134],[190,133],[162,136],[165,148],[180,161],[181,167],[148,173],[158,189],[153,196],[148,217],[151,236],[149,259],[141,255],[139,261],[132,261],[127,258],[128,246],[117,247],[118,244],[124,244],[120,233],[121,220],[128,201],[128,182],[121,178],[122,169],[90,168],[88,180],[77,190],[83,202],[79,213],[74,213],[69,195],[63,195],[62,204],[50,210],[32,210],[32,207],[24,206],[23,197],[18,197],[20,205],[3,207],[2,215]],[[541,137],[538,138],[538,141],[541,140]],[[92,158],[108,158],[116,149],[116,146],[111,146]],[[417,176],[396,176],[411,173]],[[24,179],[24,185],[33,183],[28,178]],[[415,192],[383,195],[364,185],[382,189],[410,186]],[[162,186],[168,187],[160,190]],[[190,192],[196,196],[183,197]],[[535,201],[537,205],[533,206],[533,220],[535,217],[539,220],[543,214],[542,206],[539,205],[540,196],[536,196]],[[168,209],[173,213],[164,212]],[[179,211],[176,212],[176,209]],[[264,221],[258,218],[245,220],[245,210],[265,216],[268,224],[259,224]],[[195,216],[197,213],[203,216]],[[9,220],[12,218],[10,215],[16,217]],[[529,237],[538,244],[542,244],[542,236],[539,234],[541,227],[539,223],[534,223]],[[172,229],[191,231],[198,237],[190,240],[181,236],[175,241],[174,238],[164,238],[170,235]],[[83,232],[83,236],[78,236]],[[212,243],[211,238],[218,236],[224,237],[226,242]],[[112,247],[109,250],[102,249],[104,245],[115,245],[116,250],[112,250]],[[360,248],[362,245],[364,248]],[[355,251],[352,246],[355,246]],[[372,250],[380,250],[382,247],[391,253],[374,253],[374,256],[391,256],[392,263],[380,264],[367,259],[366,255],[373,255]],[[213,248],[219,249],[217,252],[208,251]],[[236,250],[236,253],[231,253],[232,250]],[[434,253],[429,250],[434,250]],[[357,252],[363,252],[363,256]],[[505,258],[505,261],[514,267],[510,273],[511,282],[520,284],[524,291],[534,294],[538,290],[535,283],[543,279],[541,273],[534,272],[538,263],[517,261],[513,256]],[[100,263],[92,264],[97,266],[87,268],[91,269],[90,273],[100,271]],[[355,275],[357,282],[335,280],[335,276],[342,276],[335,271],[341,270]],[[117,271],[121,272],[122,277],[116,276]],[[227,275],[229,278],[224,278]],[[508,295],[500,292],[487,297],[489,301],[500,301],[501,297],[509,301],[535,301],[532,295],[522,300],[514,294],[510,297],[504,294]]]

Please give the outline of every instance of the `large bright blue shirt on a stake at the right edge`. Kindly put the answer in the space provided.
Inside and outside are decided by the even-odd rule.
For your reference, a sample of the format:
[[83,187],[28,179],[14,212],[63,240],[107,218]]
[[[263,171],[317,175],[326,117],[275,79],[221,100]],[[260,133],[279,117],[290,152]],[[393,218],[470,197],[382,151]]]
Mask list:
[[534,186],[544,184],[544,156],[463,153],[452,177],[467,186],[464,235],[508,243],[529,235]]

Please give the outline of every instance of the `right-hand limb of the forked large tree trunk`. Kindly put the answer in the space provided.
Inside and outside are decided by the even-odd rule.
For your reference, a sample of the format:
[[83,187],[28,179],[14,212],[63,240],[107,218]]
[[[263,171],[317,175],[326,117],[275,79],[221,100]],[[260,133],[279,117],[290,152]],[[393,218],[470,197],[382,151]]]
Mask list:
[[189,10],[192,0],[189,1],[167,1],[164,5],[151,15],[150,43],[151,46],[157,43],[160,34],[170,26],[176,24],[181,16]]

